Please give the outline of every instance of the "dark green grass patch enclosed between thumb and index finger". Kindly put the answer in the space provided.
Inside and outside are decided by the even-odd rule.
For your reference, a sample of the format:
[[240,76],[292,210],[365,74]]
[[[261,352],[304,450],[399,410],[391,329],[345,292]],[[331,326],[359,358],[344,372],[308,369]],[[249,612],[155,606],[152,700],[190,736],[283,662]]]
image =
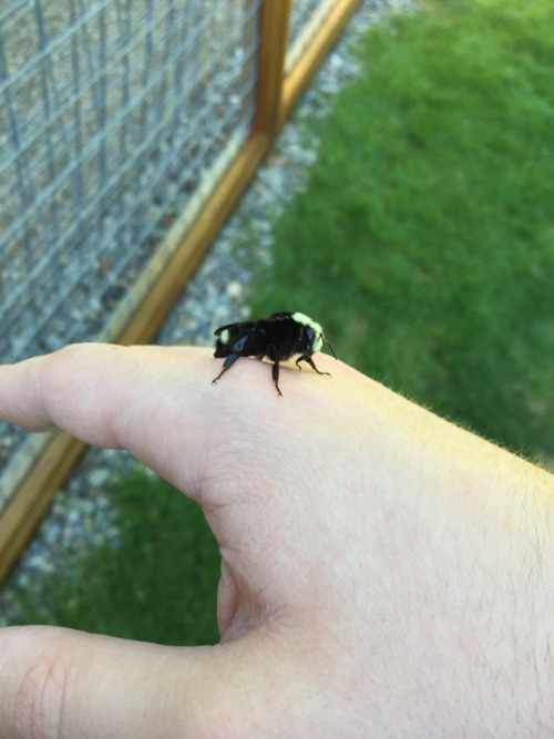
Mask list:
[[144,472],[113,485],[121,546],[63,553],[40,594],[17,586],[12,624],[57,624],[157,644],[215,644],[219,553],[198,505]]

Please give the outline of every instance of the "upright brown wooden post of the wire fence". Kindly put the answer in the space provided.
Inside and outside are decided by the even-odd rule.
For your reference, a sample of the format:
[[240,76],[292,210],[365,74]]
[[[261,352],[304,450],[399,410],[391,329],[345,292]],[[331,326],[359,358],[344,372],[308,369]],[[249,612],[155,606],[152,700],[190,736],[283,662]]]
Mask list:
[[254,133],[277,135],[281,124],[281,92],[287,57],[291,0],[263,0],[258,90]]

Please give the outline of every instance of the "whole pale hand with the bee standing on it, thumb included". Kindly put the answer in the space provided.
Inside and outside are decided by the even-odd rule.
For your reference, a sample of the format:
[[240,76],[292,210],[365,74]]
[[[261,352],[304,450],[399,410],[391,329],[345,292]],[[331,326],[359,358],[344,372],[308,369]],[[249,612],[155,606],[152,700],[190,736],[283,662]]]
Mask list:
[[130,450],[219,543],[220,644],[0,630],[2,739],[554,736],[554,478],[332,358],[68,347],[0,418]]

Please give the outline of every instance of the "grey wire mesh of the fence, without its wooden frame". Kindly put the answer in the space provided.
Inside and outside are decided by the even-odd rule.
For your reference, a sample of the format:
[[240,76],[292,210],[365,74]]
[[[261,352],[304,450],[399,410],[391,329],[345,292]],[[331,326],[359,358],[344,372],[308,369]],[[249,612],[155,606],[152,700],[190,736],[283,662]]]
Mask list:
[[[293,2],[287,69],[335,2]],[[116,337],[250,134],[263,4],[2,3],[1,361]],[[0,471],[24,442],[0,424]],[[0,480],[0,513],[9,496]]]

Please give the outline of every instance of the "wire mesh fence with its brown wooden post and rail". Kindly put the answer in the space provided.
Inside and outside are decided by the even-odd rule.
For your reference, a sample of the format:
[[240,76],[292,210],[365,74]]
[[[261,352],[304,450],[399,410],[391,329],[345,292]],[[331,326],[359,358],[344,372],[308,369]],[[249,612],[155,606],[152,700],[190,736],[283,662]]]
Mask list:
[[[0,352],[157,331],[359,0],[0,10]],[[0,579],[85,445],[0,428]]]

